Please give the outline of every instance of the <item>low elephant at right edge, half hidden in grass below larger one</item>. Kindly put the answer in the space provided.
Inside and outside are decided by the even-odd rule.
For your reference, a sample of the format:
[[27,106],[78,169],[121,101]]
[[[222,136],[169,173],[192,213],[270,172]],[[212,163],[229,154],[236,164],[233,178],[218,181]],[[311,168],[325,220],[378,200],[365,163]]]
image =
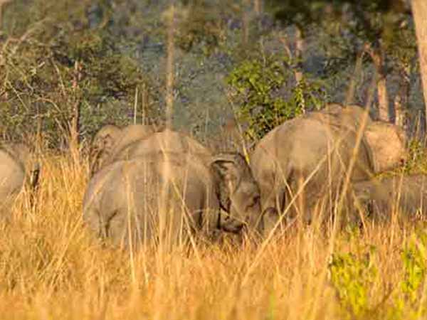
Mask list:
[[356,217],[358,210],[379,221],[389,220],[396,210],[413,217],[416,214],[426,217],[427,176],[391,176],[353,183],[351,199]]

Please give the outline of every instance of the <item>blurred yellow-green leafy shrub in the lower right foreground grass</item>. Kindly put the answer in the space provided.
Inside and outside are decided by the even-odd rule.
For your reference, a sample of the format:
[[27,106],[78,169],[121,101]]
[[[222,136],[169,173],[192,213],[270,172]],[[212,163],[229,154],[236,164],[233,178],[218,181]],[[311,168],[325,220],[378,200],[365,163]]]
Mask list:
[[[359,235],[350,234],[346,243],[357,242]],[[401,253],[402,276],[374,302],[371,288],[378,282],[376,250],[357,254],[335,253],[329,265],[331,282],[344,310],[344,319],[423,319],[426,316],[425,282],[427,274],[427,232],[418,230],[404,243]],[[382,274],[386,282],[387,274]],[[387,302],[390,302],[387,304]]]

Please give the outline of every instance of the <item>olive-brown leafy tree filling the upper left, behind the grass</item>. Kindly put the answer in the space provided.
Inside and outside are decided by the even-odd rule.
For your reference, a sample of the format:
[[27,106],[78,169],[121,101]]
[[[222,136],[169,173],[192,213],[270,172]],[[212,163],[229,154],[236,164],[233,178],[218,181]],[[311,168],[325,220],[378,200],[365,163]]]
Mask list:
[[120,41],[102,25],[90,26],[90,2],[48,4],[50,10],[43,11],[33,1],[21,12],[30,26],[6,23],[6,31],[19,40],[6,43],[2,53],[0,133],[16,137],[42,132],[48,144],[58,146],[76,105],[80,133],[90,135],[100,122],[127,122],[137,87],[146,88],[149,105],[157,100],[151,80],[135,59],[122,53]]

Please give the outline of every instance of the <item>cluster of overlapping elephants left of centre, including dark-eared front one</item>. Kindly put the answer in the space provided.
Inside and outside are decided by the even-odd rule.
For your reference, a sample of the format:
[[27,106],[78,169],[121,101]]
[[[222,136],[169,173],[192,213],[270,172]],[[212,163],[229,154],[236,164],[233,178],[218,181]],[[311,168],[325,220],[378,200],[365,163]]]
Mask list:
[[182,242],[217,230],[238,233],[247,217],[260,214],[258,184],[241,154],[211,154],[169,129],[113,128],[93,140],[83,200],[83,220],[102,238],[125,246],[158,235]]

